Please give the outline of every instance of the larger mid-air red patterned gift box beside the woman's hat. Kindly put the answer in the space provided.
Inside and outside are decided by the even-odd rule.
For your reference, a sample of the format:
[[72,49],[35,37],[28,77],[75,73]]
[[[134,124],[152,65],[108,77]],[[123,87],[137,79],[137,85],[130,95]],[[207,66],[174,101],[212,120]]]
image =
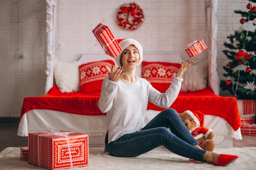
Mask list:
[[92,33],[95,35],[107,55],[115,58],[121,53],[122,48],[108,26],[99,23],[92,30]]

